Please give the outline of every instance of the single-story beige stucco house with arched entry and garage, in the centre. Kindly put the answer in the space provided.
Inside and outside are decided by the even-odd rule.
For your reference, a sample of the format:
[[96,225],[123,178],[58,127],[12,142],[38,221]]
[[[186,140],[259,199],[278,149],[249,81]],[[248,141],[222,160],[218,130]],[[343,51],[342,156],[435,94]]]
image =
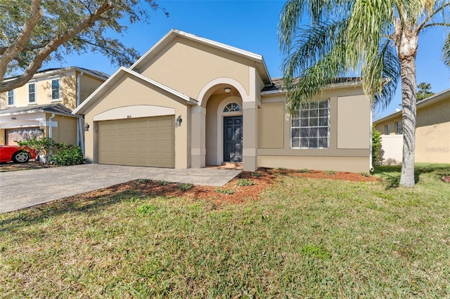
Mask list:
[[73,112],[99,164],[369,171],[371,105],[361,82],[331,84],[290,117],[261,55],[172,29]]

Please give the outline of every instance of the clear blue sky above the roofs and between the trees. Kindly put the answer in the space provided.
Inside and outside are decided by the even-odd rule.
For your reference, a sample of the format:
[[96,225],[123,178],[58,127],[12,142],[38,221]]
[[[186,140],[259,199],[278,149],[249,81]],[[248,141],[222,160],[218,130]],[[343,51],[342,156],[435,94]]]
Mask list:
[[[151,14],[150,25],[132,25],[121,39],[124,44],[134,46],[143,54],[170,29],[176,28],[263,55],[271,77],[281,77],[282,55],[278,48],[277,29],[284,3],[278,0],[162,0],[160,5],[167,9],[169,18],[162,11],[155,11]],[[417,82],[430,83],[435,93],[450,88],[450,68],[445,67],[441,59],[444,38],[444,30],[430,29],[419,39]],[[101,54],[72,55],[63,64],[46,67],[72,65],[97,69],[107,74],[113,74],[117,69]],[[390,106],[376,111],[374,119],[394,112],[400,102],[401,92],[397,88]]]

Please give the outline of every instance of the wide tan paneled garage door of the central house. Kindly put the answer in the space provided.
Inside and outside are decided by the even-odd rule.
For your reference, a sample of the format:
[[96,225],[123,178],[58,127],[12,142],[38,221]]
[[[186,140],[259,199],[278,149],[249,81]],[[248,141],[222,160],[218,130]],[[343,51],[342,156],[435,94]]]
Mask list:
[[175,167],[175,117],[98,123],[98,163]]

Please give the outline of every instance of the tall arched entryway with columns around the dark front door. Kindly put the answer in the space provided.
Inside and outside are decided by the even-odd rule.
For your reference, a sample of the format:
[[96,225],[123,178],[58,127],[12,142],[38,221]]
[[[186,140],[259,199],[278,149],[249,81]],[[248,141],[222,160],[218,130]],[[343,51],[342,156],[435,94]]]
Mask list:
[[256,103],[233,79],[207,84],[192,108],[192,167],[242,162],[245,168],[247,161],[248,168],[255,170]]

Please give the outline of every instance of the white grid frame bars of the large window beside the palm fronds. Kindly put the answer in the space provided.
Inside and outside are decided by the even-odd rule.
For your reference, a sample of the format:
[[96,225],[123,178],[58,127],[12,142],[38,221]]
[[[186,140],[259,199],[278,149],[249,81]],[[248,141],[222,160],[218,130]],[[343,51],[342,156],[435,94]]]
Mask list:
[[[321,107],[321,102],[326,102],[326,116],[323,116],[321,114],[321,110],[324,110],[323,107]],[[316,103],[317,107],[316,108],[311,108],[311,104],[314,105],[314,103]],[[295,113],[295,115],[291,115],[290,117],[290,140],[289,140],[289,146],[290,149],[293,150],[323,150],[323,149],[329,149],[330,148],[330,125],[331,125],[331,121],[330,121],[330,99],[321,99],[321,100],[311,100],[311,102],[308,102],[307,104],[307,108],[305,109],[303,107],[300,107],[300,109],[298,110],[298,112]],[[307,110],[307,114],[308,117],[302,117],[302,110]],[[316,116],[311,117],[311,111],[316,110]],[[326,126],[324,125],[320,125],[321,124],[321,119],[323,120],[324,118],[326,118]],[[302,126],[302,119],[308,121],[308,126]],[[317,125],[315,126],[310,126],[310,120],[311,119],[316,119],[317,120]],[[297,121],[298,125],[294,125],[294,123]],[[317,147],[311,147],[311,146],[307,146],[307,147],[302,147],[302,130],[310,130],[310,129],[317,129]],[[320,128],[326,128],[326,136],[321,136],[320,135]],[[298,136],[293,136],[293,130],[294,129],[298,129]],[[304,132],[304,131],[303,131]],[[303,137],[303,138],[307,138],[308,140],[308,144],[311,144],[311,140],[310,138],[314,137],[314,136],[308,136],[307,137]],[[325,146],[319,146],[320,145],[320,140],[319,138],[326,138],[326,147]],[[293,140],[298,140],[298,147],[293,146]]]

